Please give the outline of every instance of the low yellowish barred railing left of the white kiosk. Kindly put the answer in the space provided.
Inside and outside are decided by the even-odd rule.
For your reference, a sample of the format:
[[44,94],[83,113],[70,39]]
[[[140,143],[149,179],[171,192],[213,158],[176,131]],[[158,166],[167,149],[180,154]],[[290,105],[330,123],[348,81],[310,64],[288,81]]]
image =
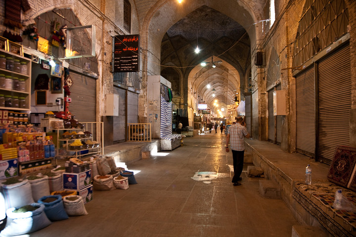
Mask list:
[[128,123],[128,142],[151,142],[151,123]]

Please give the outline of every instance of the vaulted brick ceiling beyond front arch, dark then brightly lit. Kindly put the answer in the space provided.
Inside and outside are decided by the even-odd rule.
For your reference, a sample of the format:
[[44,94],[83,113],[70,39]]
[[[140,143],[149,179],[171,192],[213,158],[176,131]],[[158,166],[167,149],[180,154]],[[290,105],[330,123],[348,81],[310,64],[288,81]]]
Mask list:
[[[198,54],[194,53],[197,45],[201,49]],[[218,99],[226,106],[231,103],[236,89],[239,89],[240,76],[245,75],[251,65],[250,50],[250,39],[238,22],[203,5],[166,32],[161,44],[161,65],[178,67],[184,78],[195,66],[200,67],[193,70],[195,75],[189,75],[189,78],[195,78],[192,90],[202,96],[200,100],[203,98],[211,103]],[[216,63],[216,68],[208,64],[202,70],[200,63],[211,62],[212,56],[213,62],[223,63]],[[166,67],[161,68],[164,70]],[[216,90],[215,98],[212,98],[211,89],[206,89],[208,83]]]

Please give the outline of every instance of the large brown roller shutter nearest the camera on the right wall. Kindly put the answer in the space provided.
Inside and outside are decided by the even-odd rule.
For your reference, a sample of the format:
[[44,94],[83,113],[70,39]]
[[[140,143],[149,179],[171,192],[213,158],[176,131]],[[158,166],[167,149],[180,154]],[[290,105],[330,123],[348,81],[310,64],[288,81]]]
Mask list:
[[349,44],[318,66],[317,158],[333,159],[336,146],[350,145],[351,64]]

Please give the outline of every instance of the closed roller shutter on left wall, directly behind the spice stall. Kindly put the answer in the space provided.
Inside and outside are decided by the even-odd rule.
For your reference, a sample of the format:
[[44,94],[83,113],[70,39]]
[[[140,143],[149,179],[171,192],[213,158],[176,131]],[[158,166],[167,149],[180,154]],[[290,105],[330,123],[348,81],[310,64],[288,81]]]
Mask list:
[[74,71],[69,73],[73,84],[70,87],[69,111],[79,122],[96,121],[96,79]]

